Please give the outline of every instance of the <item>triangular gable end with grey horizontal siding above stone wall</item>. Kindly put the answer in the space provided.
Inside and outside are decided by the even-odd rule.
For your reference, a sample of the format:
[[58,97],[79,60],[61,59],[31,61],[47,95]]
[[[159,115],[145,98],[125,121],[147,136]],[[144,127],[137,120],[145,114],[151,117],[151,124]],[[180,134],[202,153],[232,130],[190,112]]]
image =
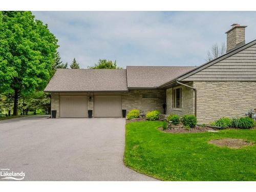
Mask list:
[[256,81],[256,45],[220,59],[182,81]]

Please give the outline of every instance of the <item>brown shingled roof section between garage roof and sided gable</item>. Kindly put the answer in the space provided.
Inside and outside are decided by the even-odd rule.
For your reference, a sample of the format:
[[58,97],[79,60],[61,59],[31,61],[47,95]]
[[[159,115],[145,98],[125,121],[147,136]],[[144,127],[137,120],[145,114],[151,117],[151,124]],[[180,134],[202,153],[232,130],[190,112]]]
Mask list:
[[170,79],[195,68],[191,66],[127,66],[127,87],[130,89],[157,88]]

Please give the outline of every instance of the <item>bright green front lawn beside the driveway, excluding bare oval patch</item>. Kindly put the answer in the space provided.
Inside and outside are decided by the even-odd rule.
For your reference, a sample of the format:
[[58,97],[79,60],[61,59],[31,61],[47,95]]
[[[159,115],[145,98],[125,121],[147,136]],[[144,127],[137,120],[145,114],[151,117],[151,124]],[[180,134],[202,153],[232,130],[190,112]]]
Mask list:
[[161,121],[126,124],[126,166],[161,180],[256,180],[256,144],[231,149],[207,143],[220,138],[241,138],[255,143],[255,129],[174,134],[158,131],[161,125]]

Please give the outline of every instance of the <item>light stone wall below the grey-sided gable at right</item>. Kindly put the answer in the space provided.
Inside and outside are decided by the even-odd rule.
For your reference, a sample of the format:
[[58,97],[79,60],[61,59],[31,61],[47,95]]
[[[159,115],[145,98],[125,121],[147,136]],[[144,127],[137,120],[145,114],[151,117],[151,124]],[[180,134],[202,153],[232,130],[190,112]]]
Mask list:
[[197,118],[209,123],[221,117],[240,117],[256,109],[255,81],[194,81]]

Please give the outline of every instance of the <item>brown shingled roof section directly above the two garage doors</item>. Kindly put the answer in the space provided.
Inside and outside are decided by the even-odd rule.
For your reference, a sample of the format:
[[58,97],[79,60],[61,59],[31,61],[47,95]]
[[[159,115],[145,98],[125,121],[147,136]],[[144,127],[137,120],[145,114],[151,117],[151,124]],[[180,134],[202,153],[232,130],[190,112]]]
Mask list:
[[45,92],[127,91],[124,69],[57,69]]

